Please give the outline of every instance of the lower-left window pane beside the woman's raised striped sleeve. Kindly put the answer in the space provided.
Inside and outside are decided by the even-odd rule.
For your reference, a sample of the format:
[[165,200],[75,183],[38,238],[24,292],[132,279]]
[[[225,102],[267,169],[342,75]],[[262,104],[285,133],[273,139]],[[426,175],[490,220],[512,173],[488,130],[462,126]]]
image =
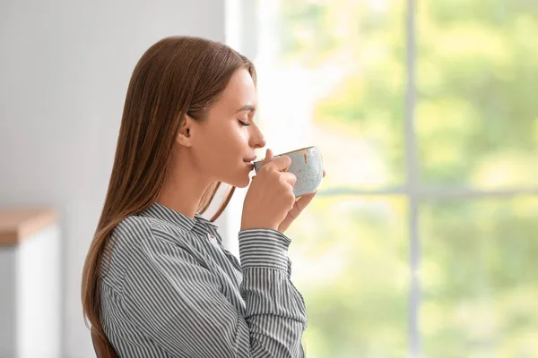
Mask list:
[[406,217],[401,197],[319,196],[286,233],[309,358],[406,355]]

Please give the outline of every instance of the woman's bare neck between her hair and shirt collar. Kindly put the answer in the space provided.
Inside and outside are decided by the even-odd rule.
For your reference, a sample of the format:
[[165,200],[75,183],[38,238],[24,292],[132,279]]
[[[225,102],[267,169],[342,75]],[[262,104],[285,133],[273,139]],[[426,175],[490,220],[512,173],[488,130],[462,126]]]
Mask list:
[[185,151],[179,152],[173,163],[175,166],[167,176],[157,202],[194,218],[205,188],[211,181],[196,170]]

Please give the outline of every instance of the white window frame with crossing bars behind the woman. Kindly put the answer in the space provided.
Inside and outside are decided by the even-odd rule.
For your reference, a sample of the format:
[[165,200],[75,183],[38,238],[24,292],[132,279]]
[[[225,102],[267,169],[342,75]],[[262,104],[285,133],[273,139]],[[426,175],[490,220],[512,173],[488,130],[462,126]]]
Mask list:
[[[265,0],[226,0],[226,42],[230,47],[237,49],[248,58],[256,58],[258,28],[256,21],[258,1]],[[538,195],[538,188],[525,188],[514,190],[475,190],[469,188],[428,188],[420,182],[419,158],[417,150],[417,135],[415,131],[416,109],[416,64],[417,64],[417,29],[415,14],[417,11],[415,0],[406,0],[405,13],[405,165],[407,175],[403,186],[379,190],[352,190],[333,189],[322,190],[318,196],[403,196],[408,200],[408,237],[410,240],[409,266],[410,266],[410,292],[408,295],[408,334],[409,354],[413,358],[421,356],[421,336],[419,327],[419,310],[421,304],[421,237],[419,234],[419,205],[421,200],[442,200],[445,198],[509,198],[518,195]],[[229,208],[223,218],[223,226],[227,241],[225,244],[236,256],[238,253],[237,233],[239,232],[242,203],[246,190],[238,190],[230,201]]]

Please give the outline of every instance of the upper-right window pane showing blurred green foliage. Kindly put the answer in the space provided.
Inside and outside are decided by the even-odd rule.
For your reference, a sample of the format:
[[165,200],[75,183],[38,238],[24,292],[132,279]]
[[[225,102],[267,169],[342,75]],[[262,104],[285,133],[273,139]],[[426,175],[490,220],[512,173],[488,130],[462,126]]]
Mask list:
[[536,186],[538,2],[420,0],[421,178],[480,189]]

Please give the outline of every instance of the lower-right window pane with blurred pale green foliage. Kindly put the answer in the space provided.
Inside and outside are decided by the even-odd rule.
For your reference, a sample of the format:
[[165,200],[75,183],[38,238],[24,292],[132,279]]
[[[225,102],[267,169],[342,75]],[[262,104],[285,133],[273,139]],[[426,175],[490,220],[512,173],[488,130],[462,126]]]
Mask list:
[[536,357],[538,197],[421,207],[428,357]]

